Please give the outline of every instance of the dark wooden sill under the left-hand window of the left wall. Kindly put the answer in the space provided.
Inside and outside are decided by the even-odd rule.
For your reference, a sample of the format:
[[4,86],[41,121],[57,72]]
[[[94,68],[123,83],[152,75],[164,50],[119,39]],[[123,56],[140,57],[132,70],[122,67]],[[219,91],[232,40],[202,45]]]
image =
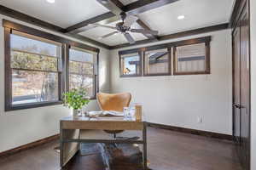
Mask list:
[[10,107],[5,107],[5,111],[19,111],[24,109],[33,109],[38,107],[45,107],[50,105],[62,105],[62,101],[55,102],[42,102],[42,103],[33,103],[33,104],[23,104],[23,105],[11,105]]

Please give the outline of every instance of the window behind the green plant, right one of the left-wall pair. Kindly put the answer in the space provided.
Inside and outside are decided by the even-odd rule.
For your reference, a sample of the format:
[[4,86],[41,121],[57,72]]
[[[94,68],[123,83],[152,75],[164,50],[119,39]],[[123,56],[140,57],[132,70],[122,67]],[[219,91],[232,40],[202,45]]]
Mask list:
[[96,98],[96,56],[82,48],[69,49],[69,89],[84,88],[90,98]]

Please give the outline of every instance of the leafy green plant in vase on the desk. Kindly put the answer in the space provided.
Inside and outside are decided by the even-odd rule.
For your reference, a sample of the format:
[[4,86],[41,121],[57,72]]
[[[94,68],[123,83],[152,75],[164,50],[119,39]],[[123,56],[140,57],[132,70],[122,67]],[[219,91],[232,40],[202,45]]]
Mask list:
[[64,105],[72,109],[73,116],[79,116],[79,110],[82,109],[84,105],[88,105],[90,99],[86,97],[86,92],[84,89],[72,89],[63,94]]

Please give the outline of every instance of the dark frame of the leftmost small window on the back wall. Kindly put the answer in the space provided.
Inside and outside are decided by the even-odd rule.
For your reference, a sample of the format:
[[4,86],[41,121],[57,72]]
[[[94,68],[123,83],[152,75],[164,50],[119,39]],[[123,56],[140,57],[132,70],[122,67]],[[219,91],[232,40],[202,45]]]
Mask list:
[[[139,70],[140,72],[138,74],[132,74],[132,75],[125,75],[123,74],[123,66],[122,66],[122,60],[123,60],[123,55],[132,55],[132,54],[138,54],[139,59],[140,59],[140,65],[139,65]],[[125,56],[129,57],[129,56]],[[143,52],[142,51],[127,51],[125,53],[119,52],[119,77],[142,77],[143,76]]]

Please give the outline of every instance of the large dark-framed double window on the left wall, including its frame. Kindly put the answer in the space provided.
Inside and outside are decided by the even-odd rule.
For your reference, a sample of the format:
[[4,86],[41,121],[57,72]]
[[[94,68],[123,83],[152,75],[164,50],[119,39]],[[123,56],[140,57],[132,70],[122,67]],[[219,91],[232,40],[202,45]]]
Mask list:
[[5,111],[60,105],[69,88],[96,96],[98,48],[8,20],[3,27]]

